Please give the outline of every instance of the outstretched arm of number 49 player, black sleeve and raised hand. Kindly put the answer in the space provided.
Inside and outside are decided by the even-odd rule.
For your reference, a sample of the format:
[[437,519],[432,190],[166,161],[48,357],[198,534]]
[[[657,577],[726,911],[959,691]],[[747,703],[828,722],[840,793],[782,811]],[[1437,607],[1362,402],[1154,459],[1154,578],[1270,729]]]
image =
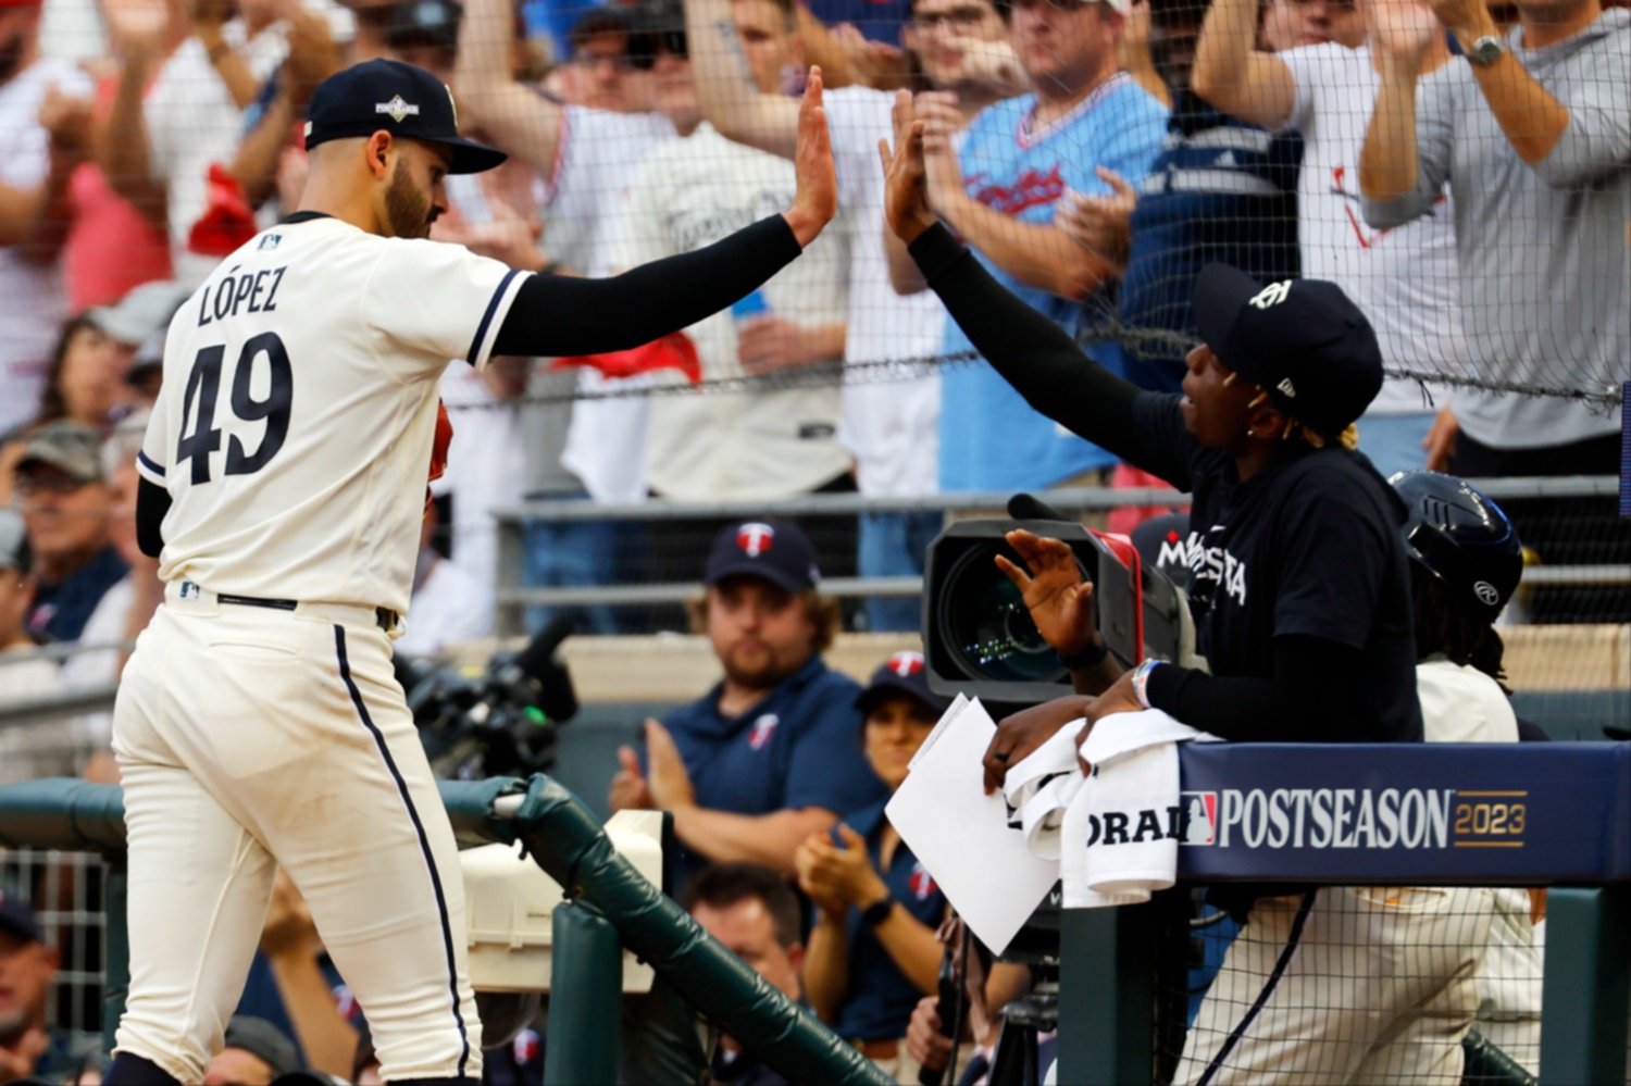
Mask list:
[[566,355],[638,347],[718,313],[775,276],[838,210],[838,181],[820,103],[820,70],[812,68],[799,106],[793,207],[706,248],[612,279],[533,276],[511,305],[494,351]]

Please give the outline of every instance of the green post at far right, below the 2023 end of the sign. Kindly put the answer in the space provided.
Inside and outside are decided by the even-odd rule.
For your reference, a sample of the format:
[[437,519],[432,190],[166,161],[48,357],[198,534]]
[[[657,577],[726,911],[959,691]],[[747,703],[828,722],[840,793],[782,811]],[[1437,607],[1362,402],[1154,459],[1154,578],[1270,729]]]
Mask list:
[[1631,1004],[1631,885],[1546,892],[1540,1081],[1626,1081]]

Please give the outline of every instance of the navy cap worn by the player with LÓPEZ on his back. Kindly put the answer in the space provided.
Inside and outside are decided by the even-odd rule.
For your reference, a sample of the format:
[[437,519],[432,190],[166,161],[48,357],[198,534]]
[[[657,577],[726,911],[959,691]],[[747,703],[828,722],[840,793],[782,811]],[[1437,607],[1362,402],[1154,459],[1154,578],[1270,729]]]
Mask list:
[[481,173],[509,158],[458,134],[453,91],[424,68],[401,60],[364,60],[318,83],[307,108],[307,150],[380,129],[450,148],[449,173]]

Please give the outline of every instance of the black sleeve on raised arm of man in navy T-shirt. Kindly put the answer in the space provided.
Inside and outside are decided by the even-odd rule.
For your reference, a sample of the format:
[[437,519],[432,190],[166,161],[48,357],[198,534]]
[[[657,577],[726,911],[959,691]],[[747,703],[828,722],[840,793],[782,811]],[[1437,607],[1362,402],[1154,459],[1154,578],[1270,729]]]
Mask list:
[[1143,463],[1138,386],[1090,359],[1052,320],[1016,298],[944,225],[908,246],[928,285],[987,362],[1032,408],[1122,460]]

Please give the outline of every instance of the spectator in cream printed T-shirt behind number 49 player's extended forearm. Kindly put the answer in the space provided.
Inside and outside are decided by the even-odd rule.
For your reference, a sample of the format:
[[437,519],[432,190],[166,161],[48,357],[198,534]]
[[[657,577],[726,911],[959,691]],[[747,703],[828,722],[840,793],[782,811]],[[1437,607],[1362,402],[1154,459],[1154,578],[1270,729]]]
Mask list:
[[[737,34],[760,93],[775,93],[781,70],[799,65],[793,0],[737,0]],[[678,13],[675,11],[675,18]],[[662,36],[652,77],[678,140],[657,147],[634,171],[612,220],[613,269],[700,249],[781,207],[793,192],[793,163],[732,143],[701,122],[690,62],[669,52],[680,23]],[[700,380],[773,378],[783,370],[843,359],[843,238],[822,236],[755,294],[726,313],[685,329]],[[654,375],[680,386],[675,370]],[[680,501],[762,501],[830,486],[850,489],[850,457],[833,440],[838,390],[778,386],[749,391],[693,390],[654,396],[646,437],[646,483]]]

